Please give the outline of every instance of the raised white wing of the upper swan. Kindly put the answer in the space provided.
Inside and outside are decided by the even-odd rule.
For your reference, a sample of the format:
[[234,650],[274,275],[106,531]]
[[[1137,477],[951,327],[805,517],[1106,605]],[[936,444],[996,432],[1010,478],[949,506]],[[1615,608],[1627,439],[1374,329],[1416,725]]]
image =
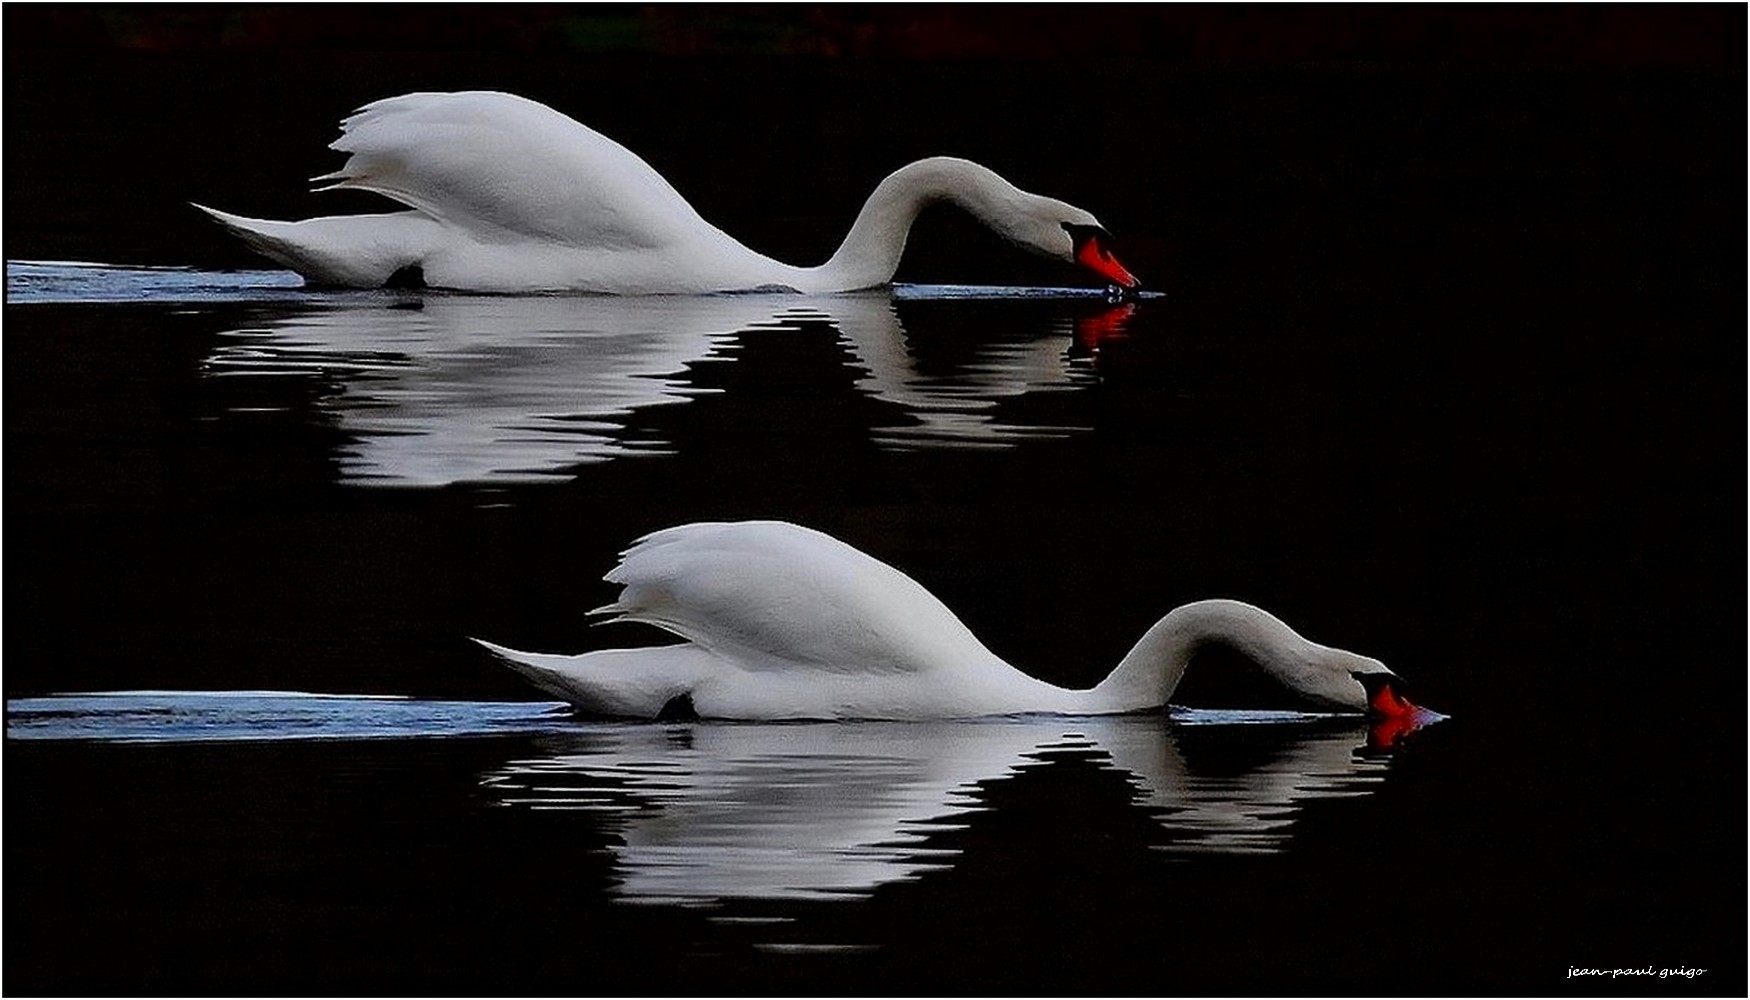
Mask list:
[[588,249],[654,249],[709,231],[630,149],[527,98],[413,93],[369,103],[331,149],[326,187],[376,191],[492,240],[536,236]]

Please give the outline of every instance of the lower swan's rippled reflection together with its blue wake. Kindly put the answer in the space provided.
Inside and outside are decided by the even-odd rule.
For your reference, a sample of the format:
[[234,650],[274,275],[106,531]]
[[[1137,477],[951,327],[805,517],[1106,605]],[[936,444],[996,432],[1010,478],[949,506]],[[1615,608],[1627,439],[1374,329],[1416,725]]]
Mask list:
[[1360,718],[1172,709],[901,723],[612,723],[556,702],[292,692],[107,692],[7,702],[7,739],[261,743],[514,737],[478,781],[499,807],[614,834],[625,902],[861,897],[957,863],[942,834],[1029,769],[1094,765],[1169,853],[1281,851],[1300,809],[1363,795],[1390,758]]

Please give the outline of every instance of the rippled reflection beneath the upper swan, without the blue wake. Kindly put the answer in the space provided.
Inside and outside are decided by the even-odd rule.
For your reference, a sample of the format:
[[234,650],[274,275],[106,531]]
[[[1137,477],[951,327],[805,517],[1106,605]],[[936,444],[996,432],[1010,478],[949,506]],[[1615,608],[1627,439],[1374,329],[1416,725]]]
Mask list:
[[[877,441],[1001,447],[1076,431],[1004,422],[998,406],[1031,392],[1090,384],[1090,347],[1122,336],[1136,306],[1046,301],[1027,308],[1027,315],[1045,317],[1043,333],[956,342],[952,361],[920,364],[889,291],[366,294],[270,313],[259,326],[226,331],[205,371],[214,378],[320,380],[318,406],[354,438],[340,455],[348,482],[565,480],[579,464],[668,450],[651,433],[639,436],[632,415],[712,392],[691,382],[695,363],[733,356],[744,338],[798,335],[824,324],[858,391],[892,408],[891,426],[872,429]],[[234,410],[261,406],[243,398]]]

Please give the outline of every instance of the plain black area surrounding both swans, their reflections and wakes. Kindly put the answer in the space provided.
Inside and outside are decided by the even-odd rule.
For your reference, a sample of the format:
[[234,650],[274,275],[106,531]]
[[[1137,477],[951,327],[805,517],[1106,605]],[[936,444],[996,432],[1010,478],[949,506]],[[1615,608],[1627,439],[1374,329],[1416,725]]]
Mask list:
[[[304,180],[343,112],[408,89],[541,98],[780,259],[824,257],[882,173],[954,152],[1088,207],[1167,292],[1068,403],[1097,433],[875,452],[819,331],[695,366],[733,391],[640,417],[672,461],[357,490],[313,401],[247,436],[196,419],[224,405],[198,361],[245,306],[9,305],[7,697],[522,697],[457,636],[579,648],[625,541],[777,515],[1052,680],[1230,592],[1365,637],[1454,720],[1377,795],[1311,811],[1292,863],[1158,865],[1104,772],[1027,774],[984,793],[968,863],[810,912],[889,942],[817,965],[609,914],[595,862],[541,863],[570,830],[457,800],[467,746],[9,741],[9,989],[1741,989],[1741,9],[586,14],[9,7],[5,256],[252,264],[186,203],[366,205]],[[1064,280],[952,215],[900,277]],[[901,315],[924,352],[1010,322]],[[1199,676],[1181,701],[1250,697]],[[312,799],[374,806],[285,814]],[[234,835],[191,841],[189,814]],[[424,825],[453,834],[406,849]],[[528,851],[480,856],[509,839]],[[371,909],[397,893],[425,916]],[[1710,972],[1563,975],[1680,963]]]

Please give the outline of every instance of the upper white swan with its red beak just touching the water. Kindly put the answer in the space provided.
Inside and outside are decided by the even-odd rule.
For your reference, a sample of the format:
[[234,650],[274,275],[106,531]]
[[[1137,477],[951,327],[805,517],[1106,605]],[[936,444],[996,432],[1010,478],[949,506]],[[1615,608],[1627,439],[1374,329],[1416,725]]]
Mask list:
[[892,280],[912,221],[936,201],[959,205],[1020,247],[1124,287],[1139,284],[1092,214],[948,156],[891,173],[838,252],[798,268],[744,247],[637,154],[528,98],[385,98],[346,117],[331,149],[350,156],[315,179],[320,191],[374,191],[408,210],[275,222],[194,207],[310,282],[345,287],[418,280],[480,292],[858,291]]

